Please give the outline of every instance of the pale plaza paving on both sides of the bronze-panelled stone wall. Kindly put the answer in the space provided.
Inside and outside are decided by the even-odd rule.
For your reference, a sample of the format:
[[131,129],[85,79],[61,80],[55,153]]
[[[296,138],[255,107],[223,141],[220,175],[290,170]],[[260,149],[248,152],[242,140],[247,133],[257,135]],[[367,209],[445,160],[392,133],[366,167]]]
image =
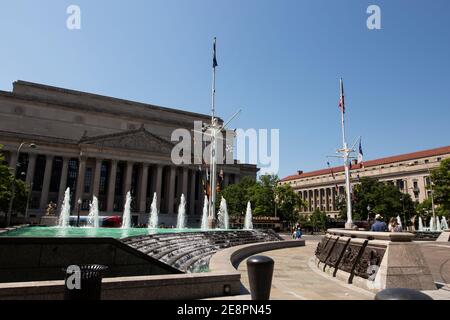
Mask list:
[[[288,235],[286,235],[289,238]],[[367,290],[346,284],[320,272],[314,266],[314,251],[321,235],[306,235],[305,247],[281,249],[262,253],[275,261],[272,280],[272,300],[373,300],[375,295]],[[436,300],[450,299],[450,244],[420,243],[439,290],[425,291]],[[248,292],[247,265],[244,260],[238,267],[243,290]],[[237,298],[237,297],[235,297]]]

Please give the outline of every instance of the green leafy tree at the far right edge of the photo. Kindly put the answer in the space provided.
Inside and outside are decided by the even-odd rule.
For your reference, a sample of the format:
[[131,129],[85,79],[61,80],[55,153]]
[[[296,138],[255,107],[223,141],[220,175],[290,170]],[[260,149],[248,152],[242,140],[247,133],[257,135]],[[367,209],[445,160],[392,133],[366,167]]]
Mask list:
[[450,216],[450,158],[431,172],[433,200],[442,215]]

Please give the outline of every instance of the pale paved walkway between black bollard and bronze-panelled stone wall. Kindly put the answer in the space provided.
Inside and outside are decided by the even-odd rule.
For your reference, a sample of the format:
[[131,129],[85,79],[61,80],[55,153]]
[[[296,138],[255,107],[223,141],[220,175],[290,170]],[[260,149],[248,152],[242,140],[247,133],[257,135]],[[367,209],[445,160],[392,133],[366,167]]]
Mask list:
[[[373,300],[374,294],[347,285],[310,267],[317,241],[306,241],[305,247],[264,252],[275,261],[271,299],[274,300]],[[247,265],[238,267],[241,282],[250,291]]]

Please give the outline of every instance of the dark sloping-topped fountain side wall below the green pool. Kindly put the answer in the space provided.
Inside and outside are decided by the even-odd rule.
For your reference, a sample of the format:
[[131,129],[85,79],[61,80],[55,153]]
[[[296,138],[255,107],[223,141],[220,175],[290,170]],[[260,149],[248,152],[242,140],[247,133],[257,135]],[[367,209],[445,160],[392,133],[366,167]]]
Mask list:
[[64,267],[83,264],[109,277],[180,273],[112,238],[0,238],[0,283],[63,280]]

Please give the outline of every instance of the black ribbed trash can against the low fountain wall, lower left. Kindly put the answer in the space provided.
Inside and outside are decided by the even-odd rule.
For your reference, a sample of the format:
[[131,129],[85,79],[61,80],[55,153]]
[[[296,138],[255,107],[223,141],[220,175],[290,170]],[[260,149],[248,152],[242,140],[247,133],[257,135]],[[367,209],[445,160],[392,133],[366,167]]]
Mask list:
[[[75,275],[76,267],[79,267],[79,275]],[[71,270],[64,268],[65,290],[64,300],[100,300],[102,294],[103,273],[107,266],[98,264],[75,266]],[[74,286],[76,280],[73,277],[79,276],[79,287]],[[70,283],[68,283],[70,281]]]

